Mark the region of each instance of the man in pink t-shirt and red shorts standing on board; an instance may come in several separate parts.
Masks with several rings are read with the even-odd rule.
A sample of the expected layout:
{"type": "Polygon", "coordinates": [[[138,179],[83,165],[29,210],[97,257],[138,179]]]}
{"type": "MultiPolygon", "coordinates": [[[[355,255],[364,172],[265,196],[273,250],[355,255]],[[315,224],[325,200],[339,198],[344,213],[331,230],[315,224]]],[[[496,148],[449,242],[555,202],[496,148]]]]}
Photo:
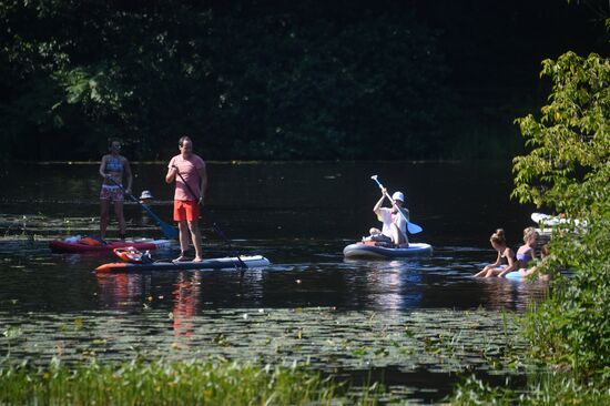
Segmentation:
{"type": "Polygon", "coordinates": [[[203,197],[207,187],[207,172],[205,162],[201,156],[193,153],[193,142],[189,136],[182,136],[177,146],[180,154],[172,158],[167,165],[165,182],[175,181],[174,193],[174,221],[177,222],[180,232],[180,256],[176,261],[186,261],[189,251],[189,232],[195,246],[194,262],[202,261],[201,232],[199,219],[201,216],[200,205],[203,205],[203,197]]]}

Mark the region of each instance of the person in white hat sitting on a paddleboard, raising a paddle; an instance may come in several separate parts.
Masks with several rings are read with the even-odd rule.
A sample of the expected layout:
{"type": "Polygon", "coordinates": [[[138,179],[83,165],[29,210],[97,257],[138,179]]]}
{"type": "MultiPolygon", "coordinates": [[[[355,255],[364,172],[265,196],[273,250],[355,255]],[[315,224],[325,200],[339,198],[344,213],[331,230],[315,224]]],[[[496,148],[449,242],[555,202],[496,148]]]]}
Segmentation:
{"type": "Polygon", "coordinates": [[[384,203],[387,190],[382,189],[382,199],[373,207],[373,212],[377,215],[377,219],[384,223],[382,230],[373,227],[369,233],[373,241],[390,242],[397,247],[407,248],[409,246],[409,240],[407,237],[407,222],[405,217],[398,213],[401,211],[407,219],[409,219],[409,211],[403,207],[405,204],[405,195],[403,192],[395,192],[392,195],[392,207],[382,207],[384,203]]]}

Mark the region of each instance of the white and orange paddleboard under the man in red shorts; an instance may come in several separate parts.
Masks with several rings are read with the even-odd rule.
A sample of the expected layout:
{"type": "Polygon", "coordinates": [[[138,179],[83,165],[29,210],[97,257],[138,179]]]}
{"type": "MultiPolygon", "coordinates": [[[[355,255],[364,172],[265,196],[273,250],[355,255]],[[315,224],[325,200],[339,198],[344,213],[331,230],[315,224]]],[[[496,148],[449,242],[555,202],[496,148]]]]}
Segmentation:
{"type": "Polygon", "coordinates": [[[131,272],[149,272],[149,271],[183,271],[183,270],[235,270],[235,268],[253,268],[265,267],[271,265],[271,262],[262,255],[236,256],[209,258],[200,262],[151,262],[151,263],[128,263],[114,262],[100,265],[95,268],[96,272],[113,272],[113,273],[131,273],[131,272]]]}

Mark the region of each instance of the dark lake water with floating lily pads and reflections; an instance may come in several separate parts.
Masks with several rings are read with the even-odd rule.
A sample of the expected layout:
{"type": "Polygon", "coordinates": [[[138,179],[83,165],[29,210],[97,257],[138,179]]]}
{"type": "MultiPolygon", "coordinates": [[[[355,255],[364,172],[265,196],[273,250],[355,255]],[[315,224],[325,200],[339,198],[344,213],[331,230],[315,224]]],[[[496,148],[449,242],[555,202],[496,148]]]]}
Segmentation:
{"type": "MultiPolygon", "coordinates": [[[[210,163],[206,255],[228,253],[216,223],[235,251],[273,263],[244,275],[96,275],[110,254],[52,254],[48,243],[98,232],[98,164],[0,169],[0,356],[299,363],[356,382],[382,375],[393,396],[414,402],[440,400],[467,372],[522,380],[497,365],[522,352],[511,318],[548,286],[471,277],[495,260],[488,241],[497,227],[517,247],[532,225],[532,207],[509,199],[508,162],[210,163]],[[345,245],[377,225],[373,174],[405,193],[424,227],[411,241],[431,244],[431,257],[343,258],[345,245]]],[[[133,171],[134,194],[150,190],[152,210],[171,223],[165,165],[133,171]]],[[[162,237],[136,204],[125,217],[130,236],[162,237]]]]}

